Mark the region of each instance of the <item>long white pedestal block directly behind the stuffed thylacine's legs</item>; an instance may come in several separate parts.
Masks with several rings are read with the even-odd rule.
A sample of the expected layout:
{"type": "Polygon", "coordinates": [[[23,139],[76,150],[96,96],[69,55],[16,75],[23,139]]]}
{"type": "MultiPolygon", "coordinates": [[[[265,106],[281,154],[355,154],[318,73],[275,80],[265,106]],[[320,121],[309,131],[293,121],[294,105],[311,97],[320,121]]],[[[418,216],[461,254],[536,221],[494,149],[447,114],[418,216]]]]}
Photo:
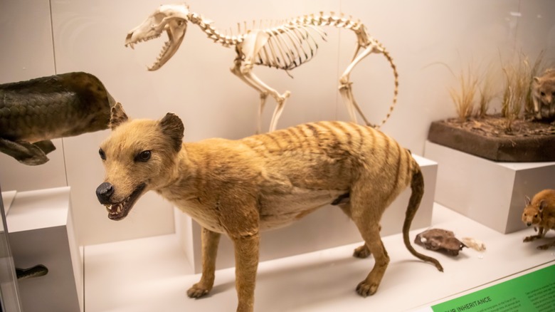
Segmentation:
{"type": "MultiPolygon", "coordinates": [[[[425,192],[413,219],[411,229],[429,227],[432,218],[432,207],[435,193],[435,176],[438,164],[423,157],[414,156],[421,166],[425,192]]],[[[381,219],[381,235],[387,236],[400,233],[405,219],[410,187],[391,204],[381,219]]],[[[186,252],[191,266],[196,273],[201,271],[201,227],[189,216],[175,209],[176,233],[180,244],[186,252]]],[[[263,232],[260,239],[260,261],[278,259],[295,254],[328,249],[345,244],[362,241],[358,229],[353,222],[335,206],[309,214],[304,219],[289,227],[263,232]]],[[[220,241],[218,248],[218,269],[235,266],[233,244],[226,237],[220,241]]]]}

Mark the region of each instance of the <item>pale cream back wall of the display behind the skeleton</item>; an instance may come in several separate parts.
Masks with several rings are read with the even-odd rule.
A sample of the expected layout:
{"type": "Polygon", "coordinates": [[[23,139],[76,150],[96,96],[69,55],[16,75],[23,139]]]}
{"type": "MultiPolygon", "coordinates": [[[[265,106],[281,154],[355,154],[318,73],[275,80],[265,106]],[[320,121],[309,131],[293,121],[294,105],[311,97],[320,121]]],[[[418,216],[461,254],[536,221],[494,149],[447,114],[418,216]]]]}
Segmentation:
{"type": "MultiPolygon", "coordinates": [[[[179,51],[159,71],[149,72],[164,37],[125,48],[127,31],[141,23],[160,1],[0,0],[0,83],[57,73],[85,71],[102,80],[132,118],[181,117],[185,140],[236,139],[255,132],[259,97],[229,68],[235,53],[206,38],[190,24],[179,51]]],[[[382,128],[405,147],[422,154],[430,122],[455,115],[448,87],[461,68],[499,67],[518,53],[534,59],[540,51],[553,61],[555,2],[441,0],[188,1],[191,11],[216,28],[237,22],[282,20],[319,11],[344,12],[366,24],[393,56],[399,96],[382,128]],[[453,71],[453,72],[452,72],[453,71]]],[[[347,30],[326,28],[312,61],[289,72],[255,68],[280,92],[291,91],[278,128],[314,120],[348,120],[337,92],[355,41],[347,30]]],[[[235,31],[236,32],[236,31],[235,31]]],[[[366,116],[379,123],[393,96],[386,58],[371,55],[351,75],[354,94],[366,116]]],[[[268,128],[275,107],[269,98],[263,115],[268,128]]],[[[174,232],[173,210],[157,194],[144,196],[122,222],[107,219],[95,189],[103,179],[97,150],[108,130],[54,140],[50,162],[21,165],[0,155],[2,190],[71,187],[75,227],[81,244],[99,244],[174,232]]]]}

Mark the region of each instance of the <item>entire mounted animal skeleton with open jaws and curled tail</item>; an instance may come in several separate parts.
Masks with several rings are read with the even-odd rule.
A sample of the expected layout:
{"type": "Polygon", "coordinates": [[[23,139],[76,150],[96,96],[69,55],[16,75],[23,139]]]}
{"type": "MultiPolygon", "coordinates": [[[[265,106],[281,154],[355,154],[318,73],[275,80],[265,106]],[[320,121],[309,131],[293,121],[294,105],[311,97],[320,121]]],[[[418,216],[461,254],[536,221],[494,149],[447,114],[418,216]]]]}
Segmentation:
{"type": "MultiPolygon", "coordinates": [[[[289,97],[290,92],[285,91],[285,93],[280,94],[277,90],[271,88],[255,76],[253,66],[264,65],[290,71],[297,66],[307,63],[307,61],[314,57],[318,48],[314,34],[322,38],[322,40],[326,40],[327,35],[322,31],[320,26],[345,28],[354,31],[356,34],[357,42],[354,56],[341,78],[339,78],[339,93],[341,93],[343,101],[347,105],[351,121],[356,122],[356,112],[358,112],[364,123],[371,125],[354,99],[352,82],[349,79],[354,66],[370,53],[383,53],[393,69],[393,76],[395,78],[393,103],[389,107],[386,118],[381,121],[380,125],[372,126],[379,128],[379,126],[383,125],[391,115],[396,104],[398,74],[396,66],[393,64],[393,59],[386,51],[386,48],[369,35],[366,27],[360,21],[354,21],[351,17],[347,18],[343,15],[337,16],[333,12],[331,14],[320,12],[319,14],[297,17],[287,20],[279,26],[268,28],[263,28],[262,23],[260,23],[258,26],[253,24],[253,28],[248,29],[245,24],[243,33],[233,36],[222,34],[221,31],[213,28],[212,21],[203,18],[199,14],[192,13],[185,4],[165,4],[159,6],[142,24],[127,33],[125,46],[133,48],[135,43],[158,38],[162,31],[166,31],[169,40],[166,41],[157,61],[148,68],[149,71],[156,71],[176,53],[181,41],[183,41],[187,22],[189,21],[192,24],[198,25],[208,35],[208,38],[211,38],[215,43],[236,49],[237,56],[235,61],[233,61],[231,72],[260,93],[258,132],[260,132],[260,118],[268,95],[272,95],[277,102],[270,122],[270,131],[273,131],[277,126],[277,120],[280,118],[285,106],[285,100],[289,97]]],[[[240,31],[240,24],[238,25],[240,31]]]]}

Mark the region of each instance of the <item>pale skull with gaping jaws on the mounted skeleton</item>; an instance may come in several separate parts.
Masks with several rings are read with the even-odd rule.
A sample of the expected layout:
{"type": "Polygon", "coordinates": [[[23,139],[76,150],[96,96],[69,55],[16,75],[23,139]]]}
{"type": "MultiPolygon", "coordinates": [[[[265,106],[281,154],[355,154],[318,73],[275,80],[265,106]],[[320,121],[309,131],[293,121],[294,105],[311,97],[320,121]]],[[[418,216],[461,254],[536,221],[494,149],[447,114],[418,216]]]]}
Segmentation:
{"type": "Polygon", "coordinates": [[[162,35],[162,31],[166,31],[168,41],[162,47],[156,62],[148,68],[149,71],[156,71],[169,61],[181,45],[187,30],[187,21],[189,21],[189,9],[186,6],[172,4],[159,6],[142,24],[127,33],[125,46],[134,48],[135,43],[158,38],[162,35]]]}

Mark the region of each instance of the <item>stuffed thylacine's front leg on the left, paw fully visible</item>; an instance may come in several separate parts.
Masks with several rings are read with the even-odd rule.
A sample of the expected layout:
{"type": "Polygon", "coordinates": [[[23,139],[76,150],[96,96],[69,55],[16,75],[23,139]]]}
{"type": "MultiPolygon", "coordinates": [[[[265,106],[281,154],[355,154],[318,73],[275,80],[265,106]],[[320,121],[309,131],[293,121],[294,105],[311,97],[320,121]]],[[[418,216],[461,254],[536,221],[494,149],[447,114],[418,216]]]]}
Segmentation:
{"type": "Polygon", "coordinates": [[[211,291],[214,285],[216,272],[216,255],[218,254],[218,243],[221,234],[202,228],[201,248],[202,248],[202,276],[199,283],[194,284],[187,291],[187,296],[199,298],[211,291]]]}

